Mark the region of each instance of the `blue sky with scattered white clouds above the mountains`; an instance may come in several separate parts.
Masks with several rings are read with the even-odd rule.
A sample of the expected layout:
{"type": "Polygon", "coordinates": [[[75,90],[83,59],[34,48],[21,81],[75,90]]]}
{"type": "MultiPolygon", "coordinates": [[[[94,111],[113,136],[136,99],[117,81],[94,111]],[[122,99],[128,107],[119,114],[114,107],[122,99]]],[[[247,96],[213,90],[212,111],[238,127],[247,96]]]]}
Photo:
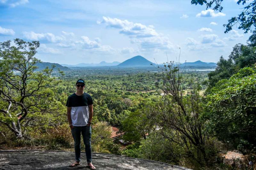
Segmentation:
{"type": "Polygon", "coordinates": [[[0,42],[39,41],[36,58],[59,64],[123,62],[141,55],[167,61],[218,62],[251,33],[223,24],[243,5],[206,10],[190,0],[0,0],[0,42]]]}

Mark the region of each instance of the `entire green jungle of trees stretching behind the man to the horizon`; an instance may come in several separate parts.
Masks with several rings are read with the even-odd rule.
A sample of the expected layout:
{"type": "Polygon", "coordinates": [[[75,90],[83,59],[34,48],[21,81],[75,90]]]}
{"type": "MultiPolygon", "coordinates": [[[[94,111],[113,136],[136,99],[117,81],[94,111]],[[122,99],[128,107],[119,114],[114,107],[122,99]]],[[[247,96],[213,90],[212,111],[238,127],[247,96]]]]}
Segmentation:
{"type": "Polygon", "coordinates": [[[176,61],[149,68],[37,71],[40,43],[14,43],[0,43],[1,150],[73,151],[65,105],[82,78],[93,98],[92,152],[192,169],[255,169],[255,31],[227,60],[220,57],[214,71],[188,71],[176,61]],[[120,138],[111,138],[112,127],[120,138]],[[230,150],[245,159],[223,164],[230,150]]]}

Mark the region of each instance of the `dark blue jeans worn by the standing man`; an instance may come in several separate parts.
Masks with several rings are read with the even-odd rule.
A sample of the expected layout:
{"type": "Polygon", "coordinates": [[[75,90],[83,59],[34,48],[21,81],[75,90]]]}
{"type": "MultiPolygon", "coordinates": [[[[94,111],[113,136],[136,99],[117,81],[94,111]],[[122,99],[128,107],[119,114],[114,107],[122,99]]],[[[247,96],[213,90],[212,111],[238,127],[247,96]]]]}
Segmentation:
{"type": "Polygon", "coordinates": [[[71,129],[72,136],[74,138],[75,142],[75,152],[76,152],[76,161],[81,161],[80,154],[81,154],[81,133],[84,139],[84,145],[85,145],[85,154],[87,163],[92,162],[92,148],[91,148],[91,136],[92,136],[92,129],[91,126],[74,126],[73,129],[71,129]]]}

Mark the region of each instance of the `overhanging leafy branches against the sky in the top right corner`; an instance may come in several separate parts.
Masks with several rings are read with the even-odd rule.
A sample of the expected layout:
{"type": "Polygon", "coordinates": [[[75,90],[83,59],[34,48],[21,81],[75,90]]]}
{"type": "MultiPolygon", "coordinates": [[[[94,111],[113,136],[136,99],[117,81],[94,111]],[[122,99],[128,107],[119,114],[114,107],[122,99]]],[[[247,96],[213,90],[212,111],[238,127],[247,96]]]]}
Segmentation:
{"type": "MultiPolygon", "coordinates": [[[[223,7],[221,6],[223,0],[191,0],[191,4],[200,4],[204,5],[206,4],[206,9],[211,8],[216,11],[222,11],[223,7]]],[[[250,2],[249,0],[238,0],[237,4],[246,4],[246,2],[250,2]]],[[[238,29],[243,29],[244,33],[247,33],[248,31],[252,31],[256,28],[256,0],[253,0],[250,2],[247,6],[243,8],[244,10],[237,16],[237,17],[232,17],[231,19],[228,20],[228,24],[224,24],[223,26],[226,27],[225,33],[229,32],[232,30],[232,27],[234,25],[239,24],[238,29]]]]}

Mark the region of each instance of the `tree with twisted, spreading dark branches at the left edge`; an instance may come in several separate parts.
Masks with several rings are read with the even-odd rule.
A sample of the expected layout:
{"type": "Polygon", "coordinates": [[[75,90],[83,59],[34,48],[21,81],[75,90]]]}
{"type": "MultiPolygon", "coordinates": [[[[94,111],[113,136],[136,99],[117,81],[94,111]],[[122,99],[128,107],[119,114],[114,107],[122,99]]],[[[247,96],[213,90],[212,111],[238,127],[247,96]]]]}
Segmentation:
{"type": "Polygon", "coordinates": [[[40,43],[22,39],[14,43],[0,43],[0,123],[16,137],[23,137],[22,128],[60,124],[58,116],[65,108],[52,89],[60,82],[51,77],[53,67],[35,71],[40,43]]]}

